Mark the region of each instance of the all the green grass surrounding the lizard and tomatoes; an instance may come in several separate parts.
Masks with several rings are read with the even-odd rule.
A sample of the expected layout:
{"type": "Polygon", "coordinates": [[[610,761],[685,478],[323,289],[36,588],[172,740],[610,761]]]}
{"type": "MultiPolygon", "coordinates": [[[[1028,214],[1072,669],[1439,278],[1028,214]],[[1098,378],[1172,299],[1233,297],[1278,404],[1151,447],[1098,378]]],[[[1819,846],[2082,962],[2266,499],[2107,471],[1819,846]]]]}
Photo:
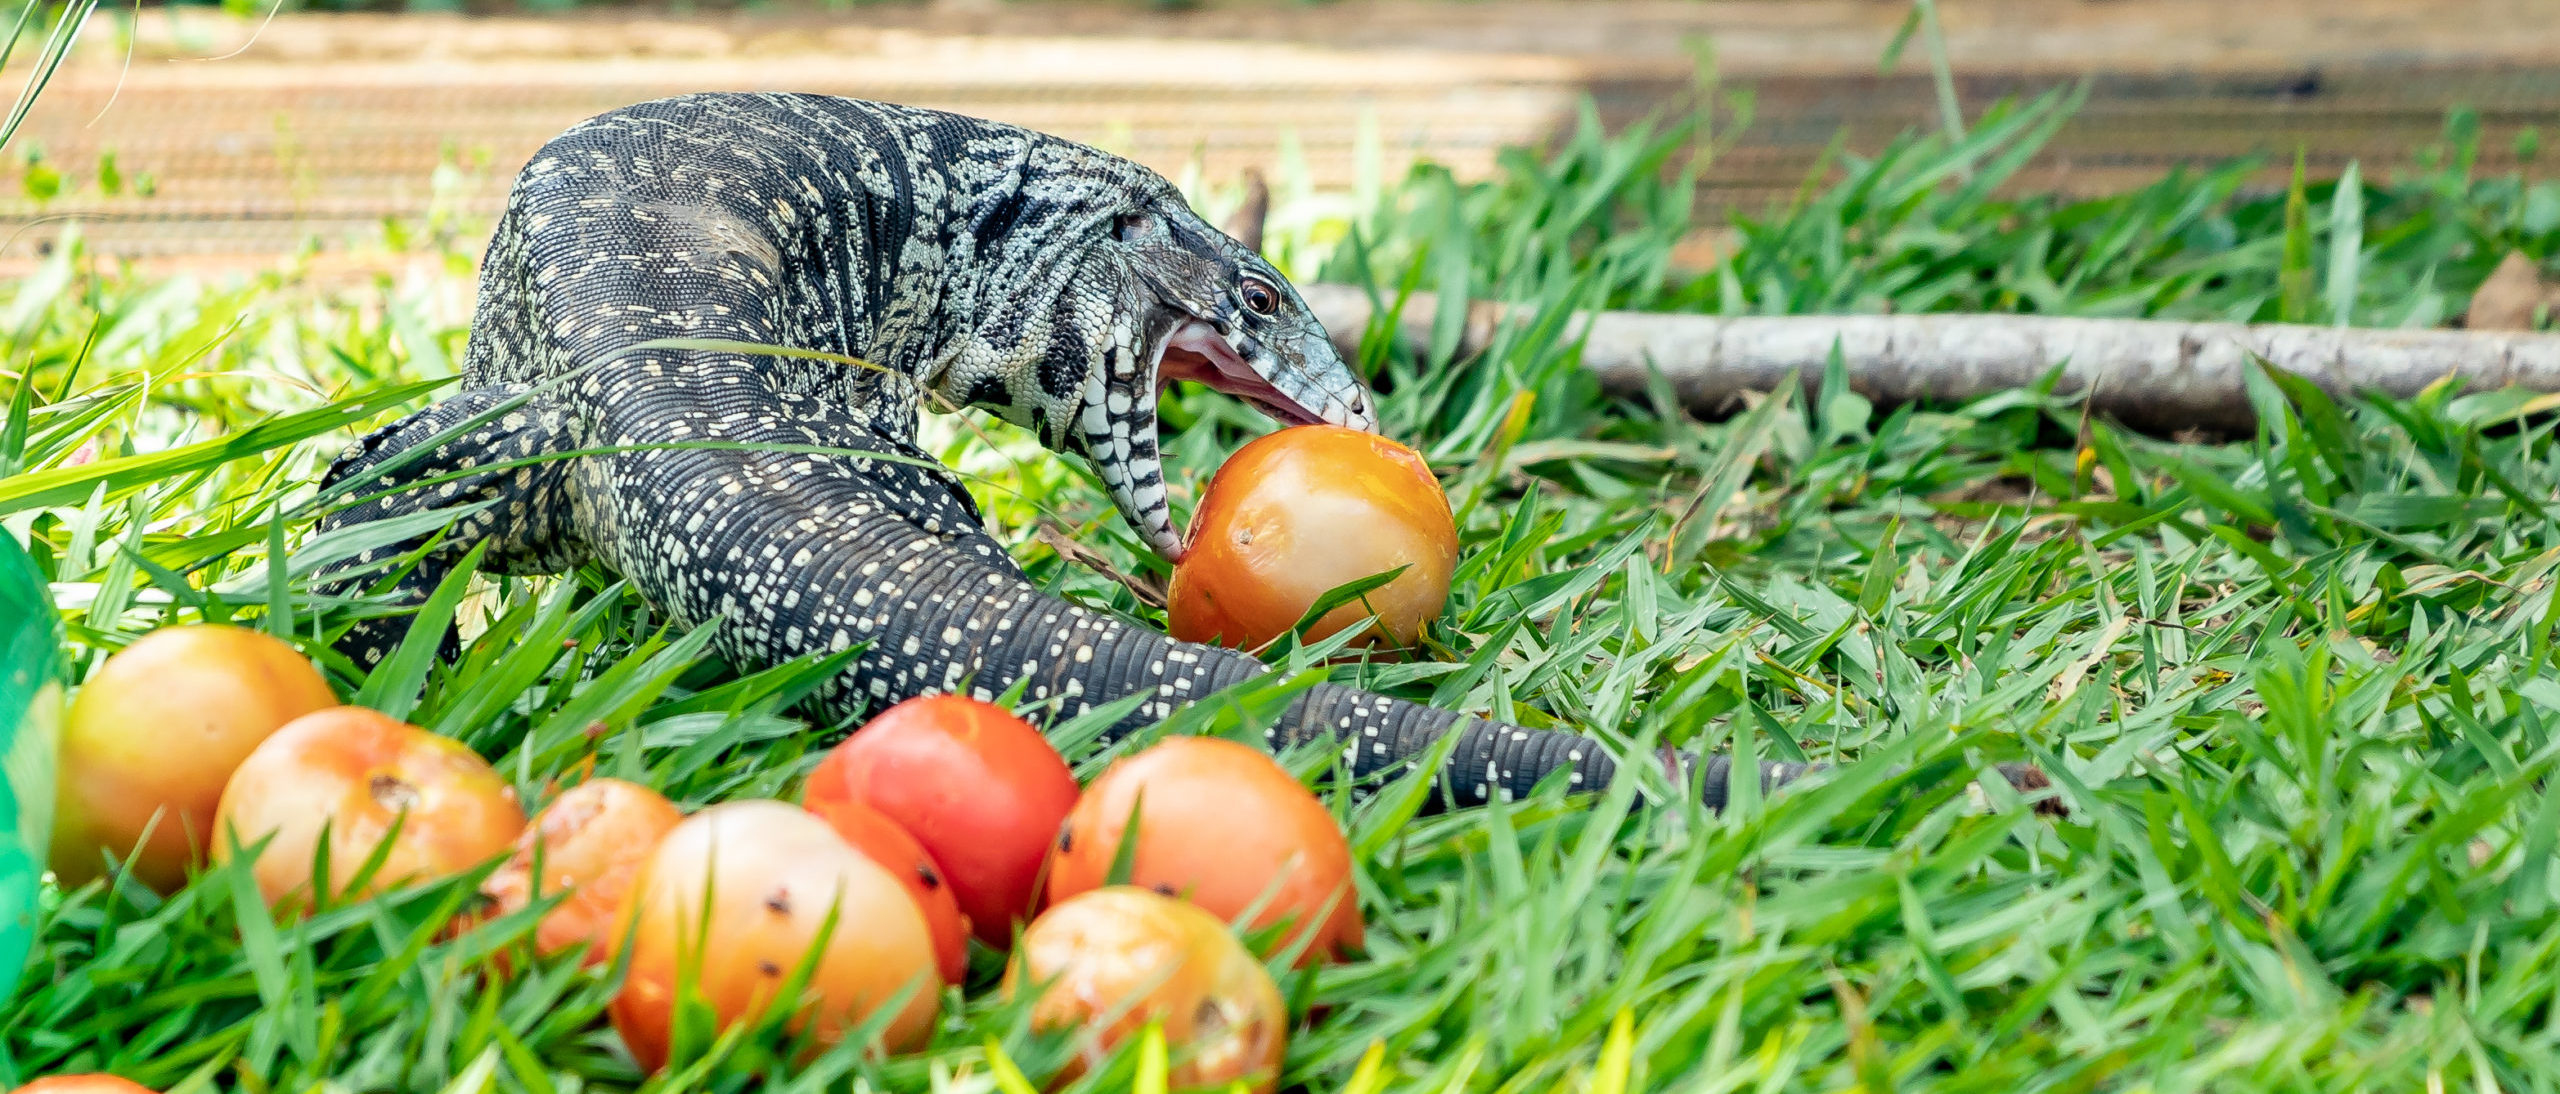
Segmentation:
{"type": "MultiPolygon", "coordinates": [[[[1705,277],[1669,251],[1708,115],[1592,131],[1482,184],[1421,172],[1354,220],[1283,210],[1275,246],[1298,274],[1551,310],[2427,323],[2506,246],[2542,254],[2560,228],[2550,184],[2468,177],[2460,123],[2440,169],[2353,200],[2250,195],[2237,167],[2097,202],[1992,195],[2061,108],[1994,110],[1958,149],[1843,156],[1705,277]]],[[[358,605],[305,589],[333,546],[300,502],[358,420],[451,374],[453,290],[146,284],[87,274],[74,249],[15,287],[0,525],[72,592],[82,671],[148,628],[228,617],[468,740],[532,802],[589,758],[684,804],[791,794],[842,730],[788,705],[822,666],[740,676],[607,574],[489,584],[453,666],[361,682],[325,653],[358,605]]],[[[1628,810],[1626,792],[1416,822],[1398,794],[1336,799],[1372,948],[1283,976],[1300,1015],[1324,1007],[1290,1043],[1293,1084],[2560,1089],[2560,804],[2542,797],[2560,461],[2542,402],[2337,405],[2263,377],[2258,436],[2171,446],[2038,392],[1871,407],[1825,384],[1818,405],[1777,395],[1700,423],[1667,397],[1605,400],[1551,325],[1444,356],[1372,338],[1362,361],[1388,430],[1459,507],[1444,656],[1347,676],[1620,743],[1871,763],[1720,817],[1628,810]],[[2053,771],[2074,817],[1987,807],[2007,799],[1989,766],[2012,758],[2053,771]]],[[[1198,392],[1167,423],[1178,505],[1267,428],[1198,392]]],[[[986,477],[1037,579],[1155,623],[1029,535],[1060,520],[1160,569],[1085,471],[996,425],[932,438],[986,477]]],[[[1239,717],[1198,710],[1183,730],[1239,717]]],[[[1060,735],[1098,758],[1088,728],[1060,735]]],[[[445,940],[468,889],[282,925],[230,871],[166,899],[61,892],[0,1045],[31,1074],[184,1091],[643,1086],[602,1020],[612,971],[494,976],[530,922],[445,940]]],[[[737,1038],[658,1089],[988,1091],[991,1038],[1039,1079],[1057,1045],[983,992],[996,963],[978,958],[924,1056],[791,1071],[771,1038],[737,1038]]]]}

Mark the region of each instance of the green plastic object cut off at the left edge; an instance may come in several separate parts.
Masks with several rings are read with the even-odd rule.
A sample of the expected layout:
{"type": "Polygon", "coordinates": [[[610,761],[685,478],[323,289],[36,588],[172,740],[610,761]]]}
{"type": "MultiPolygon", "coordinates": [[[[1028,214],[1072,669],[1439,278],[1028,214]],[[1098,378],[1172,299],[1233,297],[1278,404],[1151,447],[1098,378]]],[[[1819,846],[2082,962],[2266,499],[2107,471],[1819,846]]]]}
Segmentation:
{"type": "Polygon", "coordinates": [[[15,997],[36,943],[61,712],[61,615],[36,561],[0,535],[0,1002],[15,997]]]}

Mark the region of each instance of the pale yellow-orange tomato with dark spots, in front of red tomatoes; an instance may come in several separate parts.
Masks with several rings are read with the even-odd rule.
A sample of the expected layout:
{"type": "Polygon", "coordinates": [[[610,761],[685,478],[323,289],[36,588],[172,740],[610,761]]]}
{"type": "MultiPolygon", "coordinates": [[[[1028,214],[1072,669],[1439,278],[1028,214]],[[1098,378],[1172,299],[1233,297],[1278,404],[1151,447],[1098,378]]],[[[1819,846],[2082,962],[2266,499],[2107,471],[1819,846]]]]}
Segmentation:
{"type": "Polygon", "coordinates": [[[886,866],[794,804],[724,802],[686,817],[658,840],[630,902],[630,974],[612,1020],[650,1071],[673,1048],[678,976],[691,979],[722,1030],[748,1022],[809,958],[829,910],[837,922],[809,976],[812,999],[781,1002],[794,1007],[794,1030],[832,1045],[906,992],[883,1043],[909,1050],[942,1012],[934,943],[916,899],[886,866]]]}

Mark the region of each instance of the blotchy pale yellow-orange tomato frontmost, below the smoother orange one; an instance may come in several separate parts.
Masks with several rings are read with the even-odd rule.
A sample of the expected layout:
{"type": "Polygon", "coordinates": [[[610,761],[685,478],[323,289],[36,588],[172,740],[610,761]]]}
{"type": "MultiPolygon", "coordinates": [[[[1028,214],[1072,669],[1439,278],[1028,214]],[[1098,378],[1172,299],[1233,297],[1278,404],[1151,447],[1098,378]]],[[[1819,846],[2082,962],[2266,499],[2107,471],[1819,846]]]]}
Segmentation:
{"type": "Polygon", "coordinates": [[[1288,1048],[1280,986],[1198,907],[1134,886],[1068,899],[1021,933],[1004,994],[1021,989],[1042,989],[1032,1002],[1034,1027],[1085,1030],[1060,1084],[1101,1066],[1155,1020],[1165,1022],[1175,1089],[1280,1086],[1288,1048]]]}

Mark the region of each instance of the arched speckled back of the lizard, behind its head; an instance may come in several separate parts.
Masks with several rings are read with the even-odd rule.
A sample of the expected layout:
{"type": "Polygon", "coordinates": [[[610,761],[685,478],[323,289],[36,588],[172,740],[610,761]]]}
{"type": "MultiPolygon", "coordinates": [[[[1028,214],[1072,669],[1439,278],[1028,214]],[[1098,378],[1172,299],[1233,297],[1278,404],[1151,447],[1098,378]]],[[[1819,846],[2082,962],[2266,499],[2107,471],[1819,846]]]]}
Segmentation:
{"type": "Polygon", "coordinates": [[[1034,290],[1062,269],[1073,241],[1039,223],[1065,208],[1042,192],[1060,187],[1170,190],[1070,141],[891,102],[707,92],[620,108],[517,174],[466,379],[540,382],[668,333],[765,336],[922,374],[960,325],[986,320],[955,313],[980,284],[1034,290]],[[686,310],[740,282],[760,315],[686,310]]]}

